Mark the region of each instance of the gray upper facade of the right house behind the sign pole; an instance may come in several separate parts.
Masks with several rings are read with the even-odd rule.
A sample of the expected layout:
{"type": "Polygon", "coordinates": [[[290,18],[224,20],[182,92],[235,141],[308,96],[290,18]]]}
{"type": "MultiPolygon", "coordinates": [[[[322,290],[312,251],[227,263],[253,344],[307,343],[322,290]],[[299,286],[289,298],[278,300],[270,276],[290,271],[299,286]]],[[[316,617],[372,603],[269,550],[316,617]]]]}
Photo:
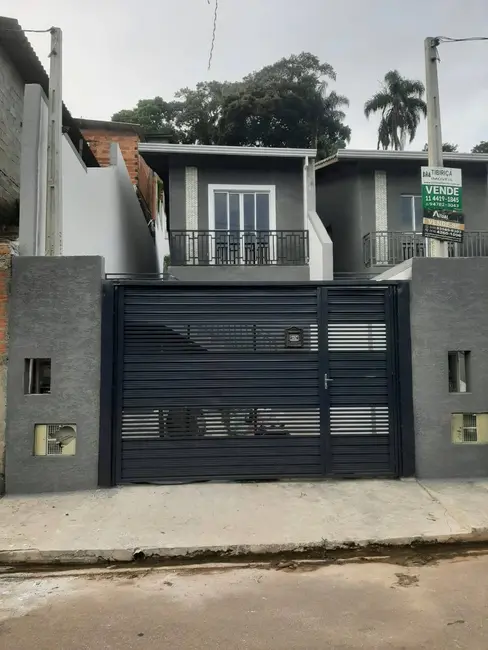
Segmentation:
{"type": "MultiPolygon", "coordinates": [[[[463,174],[465,238],[451,257],[488,256],[488,156],[446,153],[463,174]]],[[[381,273],[424,257],[420,167],[427,154],[339,150],[316,164],[317,212],[334,246],[334,272],[381,273]]]]}

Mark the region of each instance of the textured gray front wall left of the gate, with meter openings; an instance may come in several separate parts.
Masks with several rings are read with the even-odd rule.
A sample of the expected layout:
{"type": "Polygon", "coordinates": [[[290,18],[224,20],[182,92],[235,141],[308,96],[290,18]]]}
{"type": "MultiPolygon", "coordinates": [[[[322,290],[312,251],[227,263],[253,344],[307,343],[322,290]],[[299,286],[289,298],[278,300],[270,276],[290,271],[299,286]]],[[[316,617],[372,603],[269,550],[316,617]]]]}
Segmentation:
{"type": "Polygon", "coordinates": [[[12,264],[6,491],[98,483],[101,257],[17,257],[12,264]],[[51,394],[24,395],[24,362],[51,359],[51,394]],[[75,456],[33,455],[34,424],[74,423],[75,456]]]}

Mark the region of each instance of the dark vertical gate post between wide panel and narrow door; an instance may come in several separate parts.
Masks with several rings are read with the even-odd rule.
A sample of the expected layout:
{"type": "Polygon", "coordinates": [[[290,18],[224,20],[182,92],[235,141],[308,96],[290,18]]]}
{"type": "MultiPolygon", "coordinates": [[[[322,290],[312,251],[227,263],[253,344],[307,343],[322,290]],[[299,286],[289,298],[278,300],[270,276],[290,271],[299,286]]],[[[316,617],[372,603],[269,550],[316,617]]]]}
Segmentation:
{"type": "Polygon", "coordinates": [[[320,405],[320,449],[324,476],[327,475],[332,468],[332,449],[330,440],[330,398],[328,382],[326,381],[326,378],[329,378],[329,310],[327,297],[327,287],[318,287],[317,305],[319,376],[317,379],[320,405]]]}

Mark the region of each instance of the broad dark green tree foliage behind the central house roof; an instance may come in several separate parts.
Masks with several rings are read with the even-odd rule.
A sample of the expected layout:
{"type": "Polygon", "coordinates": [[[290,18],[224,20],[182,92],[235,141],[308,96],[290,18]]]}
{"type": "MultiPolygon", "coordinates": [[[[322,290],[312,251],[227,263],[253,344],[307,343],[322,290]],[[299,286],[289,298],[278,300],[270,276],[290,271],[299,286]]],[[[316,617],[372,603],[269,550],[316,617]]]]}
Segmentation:
{"type": "Polygon", "coordinates": [[[351,137],[344,123],[346,97],[328,92],[332,66],[303,52],[265,66],[238,82],[201,82],[172,101],[140,100],[114,121],[168,133],[176,142],[317,148],[334,153],[351,137]]]}

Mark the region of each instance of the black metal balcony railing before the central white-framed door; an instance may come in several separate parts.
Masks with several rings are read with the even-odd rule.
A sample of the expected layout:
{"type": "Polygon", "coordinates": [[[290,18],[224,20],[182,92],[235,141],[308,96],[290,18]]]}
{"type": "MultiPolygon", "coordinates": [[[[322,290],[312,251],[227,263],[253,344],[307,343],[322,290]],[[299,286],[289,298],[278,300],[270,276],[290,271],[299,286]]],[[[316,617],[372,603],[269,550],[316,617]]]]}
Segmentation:
{"type": "Polygon", "coordinates": [[[308,264],[307,230],[173,230],[171,266],[308,264]]]}

